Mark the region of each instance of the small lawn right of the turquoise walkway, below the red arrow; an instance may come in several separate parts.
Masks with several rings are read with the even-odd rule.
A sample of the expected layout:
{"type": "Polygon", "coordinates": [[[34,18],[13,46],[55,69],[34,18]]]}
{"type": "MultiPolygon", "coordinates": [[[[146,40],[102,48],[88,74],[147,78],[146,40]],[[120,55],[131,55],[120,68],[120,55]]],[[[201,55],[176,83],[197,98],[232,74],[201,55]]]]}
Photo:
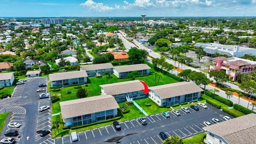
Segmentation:
{"type": "Polygon", "coordinates": [[[138,103],[138,105],[146,111],[147,114],[152,115],[152,114],[157,114],[161,113],[163,111],[170,111],[172,110],[171,108],[160,108],[158,107],[153,101],[151,101],[149,98],[146,99],[140,99],[140,100],[135,100],[135,102],[138,103]],[[151,104],[150,107],[147,107],[145,103],[148,102],[151,104]]]}

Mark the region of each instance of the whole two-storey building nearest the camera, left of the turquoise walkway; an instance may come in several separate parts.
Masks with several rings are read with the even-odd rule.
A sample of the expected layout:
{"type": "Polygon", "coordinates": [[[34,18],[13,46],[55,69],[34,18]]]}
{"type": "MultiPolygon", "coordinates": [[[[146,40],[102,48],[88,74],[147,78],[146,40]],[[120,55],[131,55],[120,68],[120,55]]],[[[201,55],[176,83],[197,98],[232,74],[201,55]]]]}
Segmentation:
{"type": "Polygon", "coordinates": [[[117,116],[119,108],[111,95],[60,102],[61,116],[65,126],[84,125],[117,116]]]}

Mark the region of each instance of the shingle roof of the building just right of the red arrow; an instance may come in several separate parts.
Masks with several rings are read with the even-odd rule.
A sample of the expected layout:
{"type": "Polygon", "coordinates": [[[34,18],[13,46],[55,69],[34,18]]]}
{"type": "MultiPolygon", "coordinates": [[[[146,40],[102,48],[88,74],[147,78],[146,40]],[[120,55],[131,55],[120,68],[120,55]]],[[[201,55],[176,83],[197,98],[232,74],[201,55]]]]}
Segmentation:
{"type": "Polygon", "coordinates": [[[149,89],[154,90],[162,99],[203,91],[195,83],[189,82],[158,85],[149,87],[149,89]]]}

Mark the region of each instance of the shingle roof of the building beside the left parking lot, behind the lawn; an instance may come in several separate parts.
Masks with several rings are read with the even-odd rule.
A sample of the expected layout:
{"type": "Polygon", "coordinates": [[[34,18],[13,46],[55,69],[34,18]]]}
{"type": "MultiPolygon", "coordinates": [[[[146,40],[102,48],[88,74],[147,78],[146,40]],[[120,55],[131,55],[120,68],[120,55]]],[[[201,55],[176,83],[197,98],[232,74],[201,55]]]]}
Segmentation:
{"type": "Polygon", "coordinates": [[[88,77],[86,71],[70,71],[66,73],[57,73],[57,74],[50,74],[49,81],[59,81],[62,79],[71,79],[71,78],[78,78],[78,77],[88,77]]]}

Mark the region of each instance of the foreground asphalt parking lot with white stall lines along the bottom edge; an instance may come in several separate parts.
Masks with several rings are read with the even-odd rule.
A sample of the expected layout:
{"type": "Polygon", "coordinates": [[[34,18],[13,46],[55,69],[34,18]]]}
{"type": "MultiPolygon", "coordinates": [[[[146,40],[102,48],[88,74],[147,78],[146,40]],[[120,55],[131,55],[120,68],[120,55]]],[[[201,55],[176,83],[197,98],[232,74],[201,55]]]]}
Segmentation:
{"type": "MultiPolygon", "coordinates": [[[[181,116],[173,113],[170,118],[165,118],[162,114],[146,116],[147,125],[141,125],[137,119],[119,123],[121,131],[116,131],[113,125],[98,127],[92,130],[78,132],[78,141],[71,141],[70,135],[65,135],[55,139],[55,143],[162,143],[159,132],[165,132],[167,136],[177,135],[181,138],[188,138],[195,134],[204,132],[203,122],[212,118],[218,118],[221,122],[223,116],[227,115],[223,111],[206,104],[209,108],[199,108],[199,111],[190,109],[190,113],[181,110],[181,116]]],[[[227,115],[229,116],[229,115],[227,115]]],[[[229,116],[231,117],[231,116],[229,116]]],[[[231,117],[233,118],[233,117],[231,117]]]]}

